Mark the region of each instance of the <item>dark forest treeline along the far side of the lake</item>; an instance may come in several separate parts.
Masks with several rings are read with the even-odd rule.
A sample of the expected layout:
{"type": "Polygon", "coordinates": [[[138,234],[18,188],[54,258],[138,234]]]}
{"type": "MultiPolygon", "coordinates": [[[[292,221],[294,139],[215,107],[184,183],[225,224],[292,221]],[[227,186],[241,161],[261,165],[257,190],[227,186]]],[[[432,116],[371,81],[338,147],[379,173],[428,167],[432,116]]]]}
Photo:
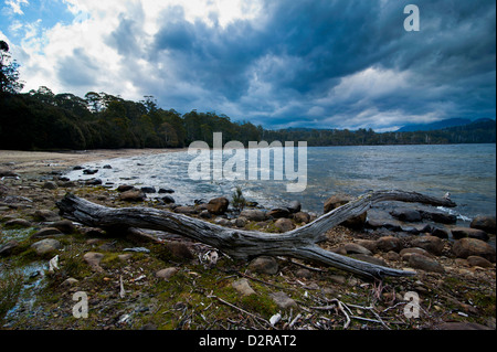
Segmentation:
{"type": "Polygon", "coordinates": [[[27,94],[0,94],[0,149],[61,150],[115,148],[183,148],[203,140],[212,146],[213,132],[223,142],[237,140],[307,141],[313,146],[424,145],[496,142],[495,120],[435,131],[384,132],[372,129],[266,130],[225,115],[179,114],[160,108],[154,97],[130,102],[106,93],[84,98],[53,94],[46,87],[27,94]]]}

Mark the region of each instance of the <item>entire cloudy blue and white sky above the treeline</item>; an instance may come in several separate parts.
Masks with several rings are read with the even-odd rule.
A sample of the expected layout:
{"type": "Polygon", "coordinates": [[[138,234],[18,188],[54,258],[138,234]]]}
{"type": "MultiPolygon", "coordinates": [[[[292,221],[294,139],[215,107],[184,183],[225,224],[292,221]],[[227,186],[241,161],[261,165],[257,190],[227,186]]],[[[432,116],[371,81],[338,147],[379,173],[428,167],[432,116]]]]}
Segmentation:
{"type": "Polygon", "coordinates": [[[0,0],[23,92],[151,95],[268,129],[495,118],[495,0],[0,0]]]}

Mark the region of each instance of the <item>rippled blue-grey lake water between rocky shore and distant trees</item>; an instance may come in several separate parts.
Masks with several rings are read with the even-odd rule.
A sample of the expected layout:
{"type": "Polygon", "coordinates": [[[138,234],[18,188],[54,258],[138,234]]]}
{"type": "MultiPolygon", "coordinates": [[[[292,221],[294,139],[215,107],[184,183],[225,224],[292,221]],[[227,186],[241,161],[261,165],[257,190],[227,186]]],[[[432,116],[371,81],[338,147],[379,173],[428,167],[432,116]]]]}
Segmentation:
{"type": "Polygon", "coordinates": [[[438,198],[450,192],[458,204],[451,211],[462,218],[496,213],[496,145],[313,147],[307,149],[307,188],[298,193],[286,191],[289,181],[285,179],[193,181],[188,167],[194,158],[188,152],[171,152],[112,159],[84,166],[98,168],[96,175],[83,175],[80,170],[67,177],[72,180],[97,177],[114,186],[169,188],[176,191],[172,196],[178,204],[216,196],[231,199],[240,185],[247,200],[265,207],[297,200],[303,210],[321,214],[325,200],[334,193],[360,195],[370,190],[398,189],[438,198]],[[104,169],[105,164],[112,169],[104,169]]]}

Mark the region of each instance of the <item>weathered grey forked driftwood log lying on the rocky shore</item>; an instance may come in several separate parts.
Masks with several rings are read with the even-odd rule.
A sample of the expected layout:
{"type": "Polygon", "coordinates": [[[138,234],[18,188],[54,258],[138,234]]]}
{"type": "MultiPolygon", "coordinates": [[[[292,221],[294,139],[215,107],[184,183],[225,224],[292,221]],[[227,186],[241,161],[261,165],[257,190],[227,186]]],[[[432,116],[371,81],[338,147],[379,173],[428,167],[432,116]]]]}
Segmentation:
{"type": "Polygon", "coordinates": [[[199,218],[150,207],[114,209],[92,203],[67,194],[56,204],[61,215],[104,230],[126,231],[148,228],[179,234],[220,249],[233,258],[250,259],[256,256],[287,256],[317,262],[370,278],[384,276],[412,276],[414,271],[379,266],[322,249],[317,245],[326,241],[326,233],[343,221],[368,211],[372,204],[401,201],[454,207],[448,199],[436,199],[414,192],[370,192],[324,214],[316,221],[283,234],[243,231],[215,225],[199,218]]]}

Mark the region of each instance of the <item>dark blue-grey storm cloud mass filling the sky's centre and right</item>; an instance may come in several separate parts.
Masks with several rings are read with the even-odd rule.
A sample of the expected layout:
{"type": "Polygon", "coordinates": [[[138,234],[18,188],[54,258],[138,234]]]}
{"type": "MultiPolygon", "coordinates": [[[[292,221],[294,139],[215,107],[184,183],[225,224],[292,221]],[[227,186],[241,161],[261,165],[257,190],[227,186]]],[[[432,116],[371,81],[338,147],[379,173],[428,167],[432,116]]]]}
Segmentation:
{"type": "Polygon", "coordinates": [[[214,25],[189,22],[176,7],[147,54],[134,49],[136,22],[123,19],[110,39],[147,55],[162,78],[147,92],[180,110],[268,128],[495,117],[495,1],[417,0],[421,31],[406,32],[411,2],[267,0],[260,18],[226,26],[213,14],[214,25]]]}

